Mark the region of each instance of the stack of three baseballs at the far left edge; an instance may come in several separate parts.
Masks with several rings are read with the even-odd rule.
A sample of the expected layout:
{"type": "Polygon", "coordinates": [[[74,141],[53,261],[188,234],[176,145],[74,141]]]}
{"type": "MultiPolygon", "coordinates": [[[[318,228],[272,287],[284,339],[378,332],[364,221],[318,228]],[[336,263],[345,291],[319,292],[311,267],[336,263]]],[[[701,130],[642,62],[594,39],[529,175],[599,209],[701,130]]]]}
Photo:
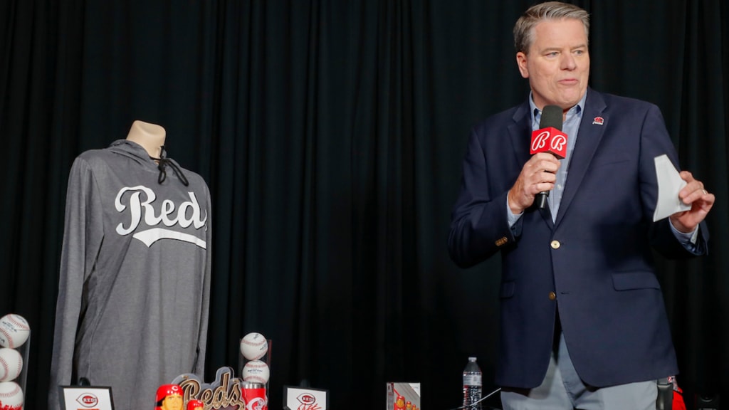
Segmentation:
{"type": "Polygon", "coordinates": [[[19,314],[0,318],[0,409],[23,409],[23,389],[13,382],[23,371],[23,355],[17,348],[26,343],[31,328],[19,314]]]}

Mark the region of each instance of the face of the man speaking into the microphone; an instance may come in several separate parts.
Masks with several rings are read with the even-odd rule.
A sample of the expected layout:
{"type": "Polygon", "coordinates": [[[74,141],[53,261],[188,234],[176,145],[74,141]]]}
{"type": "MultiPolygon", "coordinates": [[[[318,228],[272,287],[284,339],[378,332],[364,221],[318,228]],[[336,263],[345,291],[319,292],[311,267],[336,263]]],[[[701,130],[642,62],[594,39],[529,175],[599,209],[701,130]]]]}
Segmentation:
{"type": "Polygon", "coordinates": [[[545,20],[534,26],[529,53],[516,53],[521,77],[529,79],[534,104],[569,109],[588,88],[590,55],[582,22],[545,20]]]}

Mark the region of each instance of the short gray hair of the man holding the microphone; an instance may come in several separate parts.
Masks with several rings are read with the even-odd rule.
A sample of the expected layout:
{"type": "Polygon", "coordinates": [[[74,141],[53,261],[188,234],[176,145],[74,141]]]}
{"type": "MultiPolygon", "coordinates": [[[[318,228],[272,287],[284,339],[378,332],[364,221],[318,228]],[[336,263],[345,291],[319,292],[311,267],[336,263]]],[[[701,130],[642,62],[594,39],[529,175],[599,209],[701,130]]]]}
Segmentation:
{"type": "Polygon", "coordinates": [[[582,26],[585,27],[585,36],[589,39],[590,15],[588,15],[588,12],[574,4],[547,1],[529,7],[519,20],[516,20],[514,26],[514,47],[516,51],[525,54],[529,52],[529,47],[534,42],[534,26],[537,26],[537,23],[544,20],[561,20],[563,18],[580,20],[582,26]]]}

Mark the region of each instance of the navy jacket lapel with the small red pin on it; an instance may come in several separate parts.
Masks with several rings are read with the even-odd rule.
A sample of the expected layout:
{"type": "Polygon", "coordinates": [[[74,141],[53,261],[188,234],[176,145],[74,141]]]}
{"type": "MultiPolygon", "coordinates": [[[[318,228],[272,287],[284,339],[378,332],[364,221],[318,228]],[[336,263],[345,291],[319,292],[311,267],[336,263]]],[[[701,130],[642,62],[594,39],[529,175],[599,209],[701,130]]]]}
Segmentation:
{"type": "MultiPolygon", "coordinates": [[[[577,143],[574,145],[572,158],[569,160],[569,172],[564,187],[562,201],[559,204],[559,211],[555,225],[558,225],[569,211],[569,205],[582,184],[590,162],[600,144],[604,131],[609,125],[609,116],[604,114],[607,105],[600,93],[588,88],[588,97],[585,99],[585,111],[582,112],[580,131],[578,131],[577,143]],[[601,118],[601,121],[599,120],[601,118]]],[[[569,138],[569,136],[567,136],[569,138]]]]}

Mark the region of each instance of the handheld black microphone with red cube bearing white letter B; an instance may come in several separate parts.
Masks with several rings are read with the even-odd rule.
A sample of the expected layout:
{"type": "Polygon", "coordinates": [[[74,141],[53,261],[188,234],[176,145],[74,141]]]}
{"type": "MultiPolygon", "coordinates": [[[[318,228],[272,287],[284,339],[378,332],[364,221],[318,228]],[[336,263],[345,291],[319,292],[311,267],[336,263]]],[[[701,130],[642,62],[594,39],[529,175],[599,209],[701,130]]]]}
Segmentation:
{"type": "MultiPolygon", "coordinates": [[[[547,105],[542,109],[539,129],[531,132],[531,155],[537,152],[550,152],[558,159],[567,155],[567,134],[562,132],[562,109],[556,105],[547,105]]],[[[549,191],[537,194],[539,209],[547,205],[549,191]]]]}

